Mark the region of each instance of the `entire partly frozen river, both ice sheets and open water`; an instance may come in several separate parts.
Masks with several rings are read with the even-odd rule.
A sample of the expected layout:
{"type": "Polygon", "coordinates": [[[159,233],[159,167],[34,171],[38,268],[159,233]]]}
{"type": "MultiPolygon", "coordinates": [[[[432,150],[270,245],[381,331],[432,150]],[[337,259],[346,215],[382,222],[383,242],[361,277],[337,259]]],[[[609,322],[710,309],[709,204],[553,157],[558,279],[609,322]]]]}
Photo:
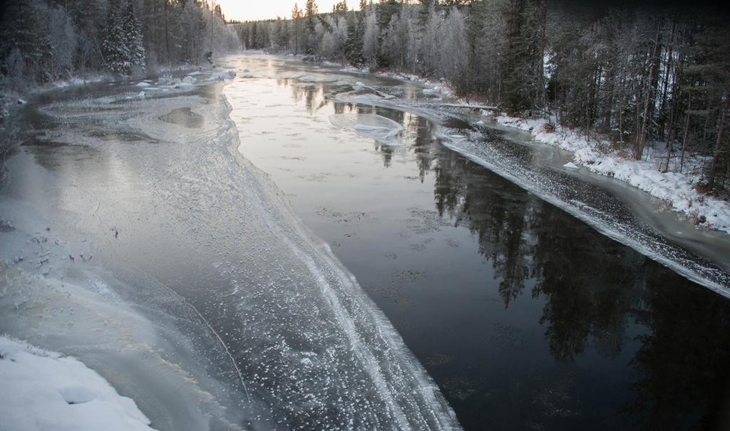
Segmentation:
{"type": "Polygon", "coordinates": [[[418,83],[226,63],[21,109],[0,333],[159,430],[729,423],[725,238],[418,83]]]}

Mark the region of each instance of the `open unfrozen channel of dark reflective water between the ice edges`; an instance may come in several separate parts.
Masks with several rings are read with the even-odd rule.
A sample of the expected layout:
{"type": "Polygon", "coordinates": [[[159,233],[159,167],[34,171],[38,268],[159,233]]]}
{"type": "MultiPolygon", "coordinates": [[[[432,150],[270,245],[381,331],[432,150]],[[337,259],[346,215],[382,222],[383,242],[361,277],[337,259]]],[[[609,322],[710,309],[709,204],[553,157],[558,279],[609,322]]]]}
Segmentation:
{"type": "Polygon", "coordinates": [[[466,429],[728,429],[726,298],[447,150],[423,117],[334,102],[344,90],[274,74],[225,92],[242,154],[355,274],[466,429]],[[328,121],[353,113],[400,123],[403,145],[328,121]]]}

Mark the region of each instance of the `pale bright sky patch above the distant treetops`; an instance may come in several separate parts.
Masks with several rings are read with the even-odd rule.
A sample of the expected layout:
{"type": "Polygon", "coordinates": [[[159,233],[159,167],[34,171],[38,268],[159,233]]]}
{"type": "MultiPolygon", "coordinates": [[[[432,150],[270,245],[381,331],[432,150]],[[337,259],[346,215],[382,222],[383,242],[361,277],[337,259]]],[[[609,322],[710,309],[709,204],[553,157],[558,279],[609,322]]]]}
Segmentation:
{"type": "MultiPolygon", "coordinates": [[[[266,18],[289,18],[294,2],[304,9],[307,0],[218,0],[223,15],[228,20],[263,20],[266,18]]],[[[320,12],[329,12],[339,0],[316,0],[320,12]]],[[[357,9],[360,0],[347,0],[347,7],[357,9]]]]}

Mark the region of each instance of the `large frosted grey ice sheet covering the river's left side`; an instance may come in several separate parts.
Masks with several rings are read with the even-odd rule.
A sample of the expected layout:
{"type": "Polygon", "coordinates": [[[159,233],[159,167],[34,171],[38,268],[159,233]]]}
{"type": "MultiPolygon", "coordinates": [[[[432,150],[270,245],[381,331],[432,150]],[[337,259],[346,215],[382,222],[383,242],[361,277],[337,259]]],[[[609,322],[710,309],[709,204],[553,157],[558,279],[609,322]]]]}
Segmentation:
{"type": "Polygon", "coordinates": [[[353,276],[239,155],[220,84],[119,91],[39,106],[7,161],[4,332],[79,357],[159,430],[458,428],[353,276]],[[164,121],[176,112],[204,119],[164,121]]]}

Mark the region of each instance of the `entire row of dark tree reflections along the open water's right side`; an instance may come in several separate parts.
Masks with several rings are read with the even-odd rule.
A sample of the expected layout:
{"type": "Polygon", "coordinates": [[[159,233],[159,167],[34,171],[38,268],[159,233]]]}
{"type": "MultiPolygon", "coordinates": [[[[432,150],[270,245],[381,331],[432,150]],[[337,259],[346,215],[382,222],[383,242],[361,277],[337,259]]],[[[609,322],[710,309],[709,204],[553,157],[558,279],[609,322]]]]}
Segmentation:
{"type": "Polygon", "coordinates": [[[558,361],[589,346],[618,357],[627,328],[646,327],[625,411],[646,430],[710,427],[730,406],[730,303],[436,144],[426,123],[415,121],[410,143],[420,176],[434,171],[439,214],[477,236],[504,306],[531,281],[558,361]]]}

